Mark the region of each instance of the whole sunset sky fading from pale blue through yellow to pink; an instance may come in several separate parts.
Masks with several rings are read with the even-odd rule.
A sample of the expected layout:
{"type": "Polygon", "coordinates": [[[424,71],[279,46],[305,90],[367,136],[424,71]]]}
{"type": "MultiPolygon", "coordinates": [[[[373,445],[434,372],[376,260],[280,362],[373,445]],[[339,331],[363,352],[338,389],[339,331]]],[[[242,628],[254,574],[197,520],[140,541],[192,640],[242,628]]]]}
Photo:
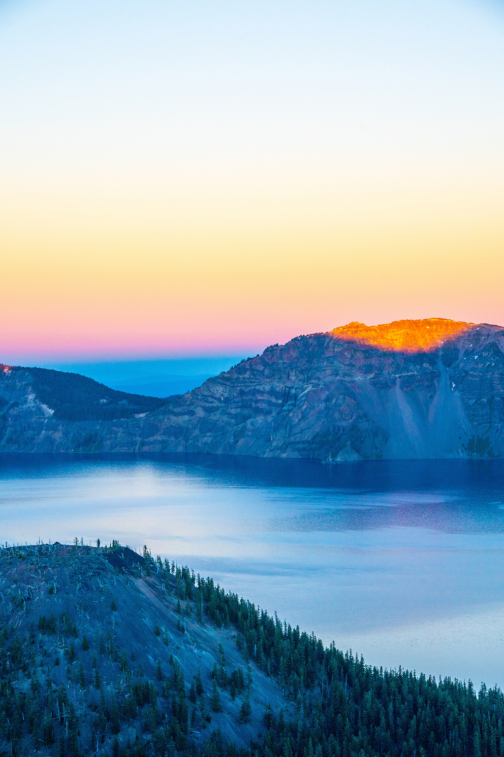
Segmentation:
{"type": "Polygon", "coordinates": [[[504,8],[0,0],[0,361],[504,323],[504,8]]]}

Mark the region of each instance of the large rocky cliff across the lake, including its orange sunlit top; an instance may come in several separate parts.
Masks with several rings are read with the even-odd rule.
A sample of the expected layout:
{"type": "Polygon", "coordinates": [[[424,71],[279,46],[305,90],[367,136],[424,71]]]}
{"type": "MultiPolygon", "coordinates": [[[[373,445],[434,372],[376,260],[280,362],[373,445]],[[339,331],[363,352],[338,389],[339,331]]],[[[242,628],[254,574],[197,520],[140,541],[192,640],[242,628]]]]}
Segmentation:
{"type": "MultiPolygon", "coordinates": [[[[103,450],[329,463],[500,457],[504,330],[444,319],[352,323],[268,347],[142,419],[91,430],[103,450]]],[[[54,450],[75,449],[68,433],[60,429],[54,450]]],[[[50,444],[45,431],[32,449],[50,444]]]]}

